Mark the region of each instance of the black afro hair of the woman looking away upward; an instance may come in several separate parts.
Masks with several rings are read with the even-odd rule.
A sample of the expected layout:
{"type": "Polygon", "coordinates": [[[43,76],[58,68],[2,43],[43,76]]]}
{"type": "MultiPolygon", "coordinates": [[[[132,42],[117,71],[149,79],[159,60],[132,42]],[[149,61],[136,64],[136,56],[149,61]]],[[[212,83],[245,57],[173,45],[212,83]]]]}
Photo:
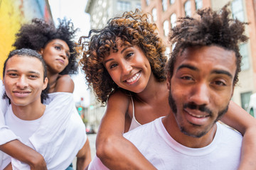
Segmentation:
{"type": "Polygon", "coordinates": [[[30,48],[39,51],[46,47],[48,42],[55,39],[65,41],[70,48],[70,57],[68,59],[68,66],[60,72],[60,74],[76,74],[78,72],[78,61],[76,60],[77,53],[75,51],[75,32],[73,23],[71,21],[58,20],[58,28],[55,28],[53,23],[46,23],[46,21],[34,18],[32,23],[24,24],[16,33],[16,41],[14,47],[16,49],[30,48]]]}

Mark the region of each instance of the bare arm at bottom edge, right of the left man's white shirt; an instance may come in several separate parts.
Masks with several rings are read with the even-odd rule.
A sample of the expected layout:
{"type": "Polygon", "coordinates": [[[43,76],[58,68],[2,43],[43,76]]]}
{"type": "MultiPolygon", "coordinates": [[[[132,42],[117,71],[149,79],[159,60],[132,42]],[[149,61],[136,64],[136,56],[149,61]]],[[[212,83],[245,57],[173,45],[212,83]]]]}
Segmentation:
{"type": "Polygon", "coordinates": [[[80,149],[77,154],[77,170],[85,169],[91,161],[92,157],[90,153],[90,143],[87,138],[85,145],[82,147],[82,149],[80,149]]]}

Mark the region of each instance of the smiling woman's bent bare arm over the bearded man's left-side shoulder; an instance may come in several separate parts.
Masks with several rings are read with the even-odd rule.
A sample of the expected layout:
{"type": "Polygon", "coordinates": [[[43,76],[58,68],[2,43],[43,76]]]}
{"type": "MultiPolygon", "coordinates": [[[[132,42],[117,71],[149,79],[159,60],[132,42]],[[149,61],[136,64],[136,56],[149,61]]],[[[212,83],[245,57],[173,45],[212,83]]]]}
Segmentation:
{"type": "Polygon", "coordinates": [[[123,137],[129,97],[117,91],[107,101],[96,140],[96,154],[109,169],[156,169],[123,137]]]}

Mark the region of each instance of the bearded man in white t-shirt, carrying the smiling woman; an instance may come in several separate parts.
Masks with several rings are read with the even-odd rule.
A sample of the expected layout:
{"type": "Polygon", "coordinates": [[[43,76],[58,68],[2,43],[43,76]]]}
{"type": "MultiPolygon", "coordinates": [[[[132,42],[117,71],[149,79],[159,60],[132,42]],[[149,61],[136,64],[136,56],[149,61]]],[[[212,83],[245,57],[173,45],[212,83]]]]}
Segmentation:
{"type": "MultiPolygon", "coordinates": [[[[244,23],[230,21],[227,6],[201,18],[181,18],[166,65],[171,113],[124,134],[156,169],[235,170],[242,135],[217,123],[238,82],[244,23]]],[[[93,159],[89,169],[106,169],[93,159]]]]}

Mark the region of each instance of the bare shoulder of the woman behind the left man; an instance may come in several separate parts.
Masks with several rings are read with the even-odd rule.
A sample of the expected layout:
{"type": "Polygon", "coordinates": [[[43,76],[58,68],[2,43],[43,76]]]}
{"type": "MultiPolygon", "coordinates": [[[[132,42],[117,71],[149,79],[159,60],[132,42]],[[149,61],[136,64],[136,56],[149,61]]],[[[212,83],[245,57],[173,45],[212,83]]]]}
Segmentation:
{"type": "Polygon", "coordinates": [[[75,88],[75,84],[73,79],[71,79],[70,75],[64,74],[58,77],[56,86],[55,86],[55,92],[73,93],[74,88],[75,88]]]}

